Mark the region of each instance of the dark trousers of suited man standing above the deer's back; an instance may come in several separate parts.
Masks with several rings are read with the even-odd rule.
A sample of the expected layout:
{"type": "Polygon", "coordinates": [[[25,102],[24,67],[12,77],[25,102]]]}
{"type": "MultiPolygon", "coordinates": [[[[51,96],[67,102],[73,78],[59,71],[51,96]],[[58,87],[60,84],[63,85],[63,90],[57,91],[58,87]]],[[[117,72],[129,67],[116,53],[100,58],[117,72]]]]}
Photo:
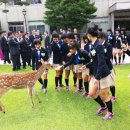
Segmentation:
{"type": "Polygon", "coordinates": [[[11,55],[12,63],[13,63],[13,70],[20,69],[20,55],[11,55]]]}

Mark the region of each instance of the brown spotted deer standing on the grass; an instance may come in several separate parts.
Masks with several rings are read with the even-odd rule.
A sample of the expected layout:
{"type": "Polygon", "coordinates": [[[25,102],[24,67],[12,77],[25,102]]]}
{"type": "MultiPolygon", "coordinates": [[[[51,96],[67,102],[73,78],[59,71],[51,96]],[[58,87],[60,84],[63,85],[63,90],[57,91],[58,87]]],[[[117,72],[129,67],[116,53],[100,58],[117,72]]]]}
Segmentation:
{"type": "MultiPolygon", "coordinates": [[[[41,77],[46,69],[46,63],[42,63],[38,70],[28,73],[5,73],[0,74],[0,98],[10,89],[23,89],[27,88],[31,100],[32,108],[34,108],[34,101],[32,93],[34,92],[38,102],[41,103],[37,91],[35,89],[36,81],[41,77]]],[[[4,105],[0,102],[0,111],[5,113],[4,105]]]]}

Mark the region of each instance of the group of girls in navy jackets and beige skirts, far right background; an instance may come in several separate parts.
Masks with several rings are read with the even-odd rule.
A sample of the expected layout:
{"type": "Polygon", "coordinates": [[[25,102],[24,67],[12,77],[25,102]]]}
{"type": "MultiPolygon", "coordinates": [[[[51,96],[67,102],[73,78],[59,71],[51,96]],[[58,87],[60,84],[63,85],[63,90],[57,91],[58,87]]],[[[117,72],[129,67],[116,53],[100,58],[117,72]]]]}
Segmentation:
{"type": "Polygon", "coordinates": [[[130,34],[126,34],[125,28],[117,28],[115,30],[115,34],[112,33],[111,29],[107,30],[107,37],[106,40],[112,45],[113,47],[113,60],[115,60],[115,65],[121,64],[125,59],[125,53],[122,50],[122,44],[125,44],[130,48],[130,34]],[[118,60],[117,60],[118,57],[118,60]]]}

